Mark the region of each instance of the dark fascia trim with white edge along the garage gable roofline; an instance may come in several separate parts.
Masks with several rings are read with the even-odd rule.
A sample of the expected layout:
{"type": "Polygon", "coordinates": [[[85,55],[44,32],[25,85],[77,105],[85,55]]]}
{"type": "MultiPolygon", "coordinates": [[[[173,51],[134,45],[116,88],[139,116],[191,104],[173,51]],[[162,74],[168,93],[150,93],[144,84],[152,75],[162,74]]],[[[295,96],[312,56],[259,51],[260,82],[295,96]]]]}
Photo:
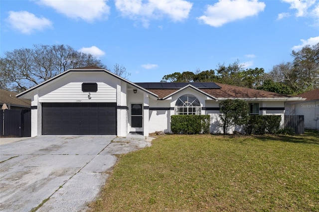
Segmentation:
{"type": "Polygon", "coordinates": [[[26,90],[26,91],[24,91],[24,92],[22,92],[22,93],[16,95],[16,98],[19,98],[19,97],[21,97],[21,96],[23,96],[23,95],[25,95],[25,94],[27,94],[27,93],[29,93],[29,92],[31,92],[31,91],[37,89],[37,88],[43,86],[43,85],[45,85],[45,84],[47,84],[47,83],[49,83],[49,82],[51,82],[51,81],[53,81],[53,80],[55,80],[55,79],[57,79],[57,78],[59,78],[59,77],[62,77],[62,76],[64,76],[64,75],[68,74],[69,72],[105,72],[105,73],[110,74],[110,75],[112,75],[113,77],[115,77],[115,78],[117,78],[117,79],[119,79],[119,80],[121,80],[121,81],[125,81],[126,83],[130,84],[131,86],[133,86],[133,87],[135,87],[135,88],[141,89],[141,90],[143,90],[144,92],[147,92],[148,94],[150,94],[150,95],[152,95],[152,96],[154,96],[154,97],[156,97],[156,98],[159,98],[156,94],[153,94],[152,92],[149,92],[148,90],[146,90],[146,89],[144,89],[144,88],[142,88],[142,87],[140,87],[140,86],[138,86],[138,85],[135,85],[134,83],[132,83],[132,82],[130,82],[130,81],[128,81],[128,80],[126,80],[126,79],[124,79],[124,78],[122,78],[122,77],[116,75],[116,74],[112,74],[110,71],[107,71],[107,70],[105,70],[105,69],[69,69],[69,70],[67,70],[67,71],[65,71],[65,72],[62,72],[61,74],[59,74],[59,75],[57,75],[57,76],[55,76],[55,77],[52,77],[51,79],[49,79],[49,80],[47,80],[47,81],[44,81],[43,83],[40,83],[40,84],[37,85],[37,86],[34,86],[33,88],[30,88],[30,89],[28,89],[28,90],[26,90]]]}

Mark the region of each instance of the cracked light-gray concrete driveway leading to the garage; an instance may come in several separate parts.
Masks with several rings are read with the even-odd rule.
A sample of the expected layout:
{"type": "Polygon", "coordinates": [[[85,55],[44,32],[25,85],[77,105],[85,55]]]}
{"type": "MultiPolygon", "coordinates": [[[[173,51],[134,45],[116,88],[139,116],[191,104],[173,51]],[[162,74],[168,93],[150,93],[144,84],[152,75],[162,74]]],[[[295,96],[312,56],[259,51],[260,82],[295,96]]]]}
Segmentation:
{"type": "Polygon", "coordinates": [[[28,212],[38,206],[38,212],[85,211],[116,155],[149,146],[149,141],[142,135],[56,135],[0,145],[0,211],[28,212]]]}

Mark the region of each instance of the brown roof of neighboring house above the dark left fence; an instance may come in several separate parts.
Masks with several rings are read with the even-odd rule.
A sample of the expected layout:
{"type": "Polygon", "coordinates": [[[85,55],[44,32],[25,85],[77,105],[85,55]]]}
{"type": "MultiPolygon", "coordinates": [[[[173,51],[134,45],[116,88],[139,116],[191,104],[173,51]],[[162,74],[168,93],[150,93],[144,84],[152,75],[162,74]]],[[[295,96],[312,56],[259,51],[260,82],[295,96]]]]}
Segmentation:
{"type": "Polygon", "coordinates": [[[31,101],[26,99],[18,99],[15,96],[18,93],[0,89],[0,105],[4,103],[11,106],[30,107],[31,101]]]}

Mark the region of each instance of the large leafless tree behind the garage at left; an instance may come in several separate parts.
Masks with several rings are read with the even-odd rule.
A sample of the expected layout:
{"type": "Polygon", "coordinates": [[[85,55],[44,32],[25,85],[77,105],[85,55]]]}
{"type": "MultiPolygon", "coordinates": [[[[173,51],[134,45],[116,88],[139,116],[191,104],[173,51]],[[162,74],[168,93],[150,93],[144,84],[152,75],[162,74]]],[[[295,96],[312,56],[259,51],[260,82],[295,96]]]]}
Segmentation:
{"type": "Polygon", "coordinates": [[[87,66],[107,69],[93,55],[78,52],[67,45],[15,49],[0,57],[0,88],[21,92],[68,69],[87,66]]]}

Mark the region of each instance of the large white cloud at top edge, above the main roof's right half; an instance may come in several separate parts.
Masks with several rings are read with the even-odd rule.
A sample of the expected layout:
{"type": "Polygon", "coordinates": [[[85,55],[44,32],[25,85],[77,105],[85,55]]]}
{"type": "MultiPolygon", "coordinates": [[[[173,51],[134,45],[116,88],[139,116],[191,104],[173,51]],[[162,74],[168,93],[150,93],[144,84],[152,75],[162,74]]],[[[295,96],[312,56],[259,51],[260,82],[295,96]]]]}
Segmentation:
{"type": "Polygon", "coordinates": [[[207,5],[204,15],[197,17],[210,26],[219,27],[225,23],[257,15],[266,4],[258,0],[219,0],[207,5]]]}

